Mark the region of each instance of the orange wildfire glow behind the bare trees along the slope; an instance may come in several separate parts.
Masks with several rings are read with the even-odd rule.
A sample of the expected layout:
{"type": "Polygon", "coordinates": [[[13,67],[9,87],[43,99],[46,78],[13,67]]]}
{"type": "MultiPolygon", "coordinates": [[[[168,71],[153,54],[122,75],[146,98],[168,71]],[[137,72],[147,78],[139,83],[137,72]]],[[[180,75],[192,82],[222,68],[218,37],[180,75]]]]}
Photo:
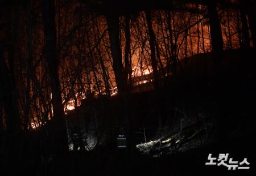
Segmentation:
{"type": "MultiPolygon", "coordinates": [[[[65,111],[80,106],[81,100],[90,95],[115,95],[117,83],[106,16],[90,11],[88,6],[79,1],[55,2],[56,51],[65,111]]],[[[40,3],[31,1],[30,8],[32,10],[28,11],[28,14],[20,10],[18,17],[19,40],[16,44],[16,55],[19,57],[15,57],[14,65],[23,128],[44,125],[53,117],[49,73],[46,71],[46,59],[43,57],[46,48],[40,3]],[[35,11],[39,13],[34,14],[35,11]],[[29,58],[32,58],[32,62],[29,58]],[[27,76],[28,73],[30,76],[27,76]],[[24,96],[26,92],[28,96],[24,96]],[[28,109],[24,109],[26,103],[29,104],[28,109]],[[28,124],[27,117],[30,122],[28,124]]],[[[240,48],[245,40],[242,38],[245,36],[245,30],[242,29],[245,23],[242,23],[242,20],[247,18],[241,19],[243,14],[239,8],[222,8],[217,5],[216,9],[224,49],[240,48]]],[[[155,49],[156,59],[153,65],[159,72],[159,78],[174,75],[172,65],[175,62],[179,63],[184,58],[212,51],[207,13],[206,5],[192,3],[177,6],[172,10],[152,10],[152,32],[155,35],[152,42],[155,45],[151,47],[146,12],[130,14],[131,82],[135,77],[153,73],[152,48],[155,49]]],[[[123,63],[121,70],[125,68],[127,45],[125,20],[125,15],[119,16],[119,41],[123,63]]],[[[2,33],[5,32],[1,32],[1,38],[5,36],[2,33]]],[[[250,45],[253,46],[252,41],[250,45]]],[[[147,82],[142,80],[140,83],[147,82]]],[[[132,91],[133,84],[128,85],[132,91]]]]}

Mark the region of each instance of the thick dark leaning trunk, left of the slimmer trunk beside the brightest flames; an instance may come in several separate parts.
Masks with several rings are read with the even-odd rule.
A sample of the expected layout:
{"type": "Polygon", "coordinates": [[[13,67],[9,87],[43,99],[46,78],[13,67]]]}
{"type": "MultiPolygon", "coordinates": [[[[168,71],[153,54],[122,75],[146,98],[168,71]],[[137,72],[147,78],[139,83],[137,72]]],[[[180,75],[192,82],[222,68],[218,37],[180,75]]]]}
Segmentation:
{"type": "MultiPolygon", "coordinates": [[[[113,8],[113,5],[110,5],[113,8]]],[[[113,57],[113,69],[115,74],[115,81],[117,83],[118,93],[126,92],[123,64],[122,64],[122,51],[119,41],[119,16],[114,12],[114,9],[110,9],[109,14],[106,15],[108,23],[109,40],[111,45],[112,57],[113,57]]]]}

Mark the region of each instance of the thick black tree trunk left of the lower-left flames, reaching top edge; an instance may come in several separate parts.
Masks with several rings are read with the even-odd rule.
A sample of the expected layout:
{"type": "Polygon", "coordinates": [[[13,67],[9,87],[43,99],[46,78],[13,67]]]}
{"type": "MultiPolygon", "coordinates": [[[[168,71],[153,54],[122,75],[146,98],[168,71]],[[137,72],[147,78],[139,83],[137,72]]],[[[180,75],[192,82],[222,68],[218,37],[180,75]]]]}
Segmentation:
{"type": "Polygon", "coordinates": [[[55,1],[42,0],[44,32],[46,37],[45,57],[49,72],[53,106],[53,152],[67,149],[64,106],[61,98],[59,81],[59,59],[56,52],[55,1]]]}

